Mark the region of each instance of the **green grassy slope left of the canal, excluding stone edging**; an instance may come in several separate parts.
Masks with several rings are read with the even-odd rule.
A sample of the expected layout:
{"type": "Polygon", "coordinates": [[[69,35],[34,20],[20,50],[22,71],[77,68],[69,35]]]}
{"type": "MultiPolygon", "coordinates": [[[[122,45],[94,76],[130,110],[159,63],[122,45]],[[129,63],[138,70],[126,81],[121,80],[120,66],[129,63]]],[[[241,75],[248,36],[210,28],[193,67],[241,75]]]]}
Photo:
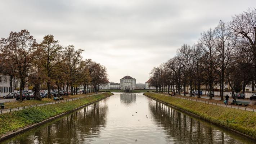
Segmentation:
{"type": "Polygon", "coordinates": [[[71,102],[44,105],[41,107],[32,107],[21,111],[14,111],[0,115],[0,137],[10,131],[15,131],[26,126],[47,120],[58,114],[71,111],[82,105],[94,102],[98,99],[112,95],[111,93],[102,93],[87,98],[73,100],[71,102]]]}

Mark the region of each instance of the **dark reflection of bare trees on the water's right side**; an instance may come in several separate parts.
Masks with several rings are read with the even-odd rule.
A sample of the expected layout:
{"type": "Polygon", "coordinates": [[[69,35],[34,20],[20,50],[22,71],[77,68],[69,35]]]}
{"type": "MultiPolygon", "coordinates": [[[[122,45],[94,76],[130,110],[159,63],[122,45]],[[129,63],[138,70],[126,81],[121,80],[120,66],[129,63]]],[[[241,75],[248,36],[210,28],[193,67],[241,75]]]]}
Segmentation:
{"type": "MultiPolygon", "coordinates": [[[[149,102],[153,120],[160,124],[170,141],[176,143],[238,143],[235,135],[215,129],[208,123],[187,116],[154,100],[149,102]]],[[[241,139],[239,139],[241,140],[241,139]]]]}

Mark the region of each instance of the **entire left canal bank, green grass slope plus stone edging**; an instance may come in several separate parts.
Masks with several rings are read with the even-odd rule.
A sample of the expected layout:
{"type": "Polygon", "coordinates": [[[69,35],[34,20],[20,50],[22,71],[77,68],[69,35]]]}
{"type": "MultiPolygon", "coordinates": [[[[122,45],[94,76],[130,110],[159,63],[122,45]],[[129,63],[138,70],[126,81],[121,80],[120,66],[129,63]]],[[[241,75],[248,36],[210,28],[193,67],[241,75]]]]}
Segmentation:
{"type": "Polygon", "coordinates": [[[91,97],[73,100],[65,103],[32,107],[21,111],[14,111],[0,115],[0,141],[9,139],[24,131],[33,129],[74,112],[82,107],[98,102],[112,93],[101,93],[91,97]]]}

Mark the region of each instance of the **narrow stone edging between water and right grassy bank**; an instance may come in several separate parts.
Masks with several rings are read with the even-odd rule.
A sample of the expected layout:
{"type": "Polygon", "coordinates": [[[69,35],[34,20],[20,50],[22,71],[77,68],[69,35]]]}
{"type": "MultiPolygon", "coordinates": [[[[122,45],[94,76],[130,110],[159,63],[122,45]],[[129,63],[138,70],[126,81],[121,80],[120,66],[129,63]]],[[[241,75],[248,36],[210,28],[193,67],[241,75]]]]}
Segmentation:
{"type": "Polygon", "coordinates": [[[153,97],[151,97],[151,96],[149,96],[149,95],[146,95],[145,93],[144,93],[143,95],[145,95],[145,96],[147,96],[148,98],[151,98],[151,99],[153,99],[153,100],[156,100],[156,101],[158,101],[158,102],[161,102],[161,103],[163,103],[163,104],[165,104],[165,105],[168,105],[169,107],[172,107],[172,108],[174,108],[174,109],[178,109],[179,111],[181,111],[181,112],[183,112],[183,113],[186,113],[186,114],[188,114],[188,115],[190,115],[190,116],[196,117],[196,118],[198,118],[199,120],[202,119],[202,120],[207,121],[207,122],[210,122],[210,123],[212,123],[212,124],[214,124],[214,125],[216,125],[216,126],[223,127],[223,128],[225,128],[225,129],[227,129],[227,130],[230,130],[230,131],[234,132],[235,134],[240,134],[240,135],[242,135],[242,136],[244,136],[244,137],[246,137],[246,138],[249,138],[249,139],[252,139],[252,140],[255,140],[255,141],[256,141],[256,138],[253,138],[252,136],[243,134],[242,132],[239,132],[239,131],[237,131],[237,130],[234,130],[234,129],[230,128],[230,127],[226,127],[226,126],[220,125],[220,124],[218,124],[218,123],[214,123],[214,122],[208,121],[206,118],[200,117],[200,116],[198,116],[197,114],[194,114],[194,113],[192,113],[192,112],[188,112],[188,111],[186,111],[186,110],[184,110],[184,109],[182,109],[182,108],[176,107],[176,106],[174,106],[174,105],[172,105],[172,104],[163,102],[162,100],[153,98],[153,97]]]}

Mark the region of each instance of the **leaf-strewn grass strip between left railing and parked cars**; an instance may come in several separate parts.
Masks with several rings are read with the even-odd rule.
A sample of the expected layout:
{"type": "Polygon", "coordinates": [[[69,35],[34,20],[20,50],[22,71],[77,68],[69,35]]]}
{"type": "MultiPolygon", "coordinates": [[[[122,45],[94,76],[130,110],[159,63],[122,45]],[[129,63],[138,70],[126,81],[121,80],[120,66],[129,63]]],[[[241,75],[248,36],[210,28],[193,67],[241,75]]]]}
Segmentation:
{"type": "MultiPolygon", "coordinates": [[[[72,99],[72,98],[77,98],[80,96],[85,96],[85,95],[91,95],[91,94],[95,94],[95,93],[88,93],[88,94],[78,94],[78,95],[65,95],[63,96],[64,99],[72,99]]],[[[55,100],[53,100],[53,98],[43,98],[42,100],[24,100],[22,101],[22,103],[20,103],[19,101],[16,102],[5,102],[5,109],[10,109],[10,108],[18,108],[18,107],[24,107],[24,106],[29,106],[29,105],[34,105],[34,104],[44,104],[44,103],[49,103],[49,102],[53,102],[55,100]]]]}

